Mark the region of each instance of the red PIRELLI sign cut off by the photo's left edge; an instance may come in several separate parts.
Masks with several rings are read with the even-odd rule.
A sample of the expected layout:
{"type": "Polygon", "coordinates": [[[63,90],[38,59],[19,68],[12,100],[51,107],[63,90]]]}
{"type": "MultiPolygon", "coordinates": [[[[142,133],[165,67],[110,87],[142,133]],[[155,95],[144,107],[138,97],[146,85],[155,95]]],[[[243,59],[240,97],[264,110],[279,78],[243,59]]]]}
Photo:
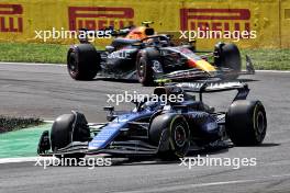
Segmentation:
{"type": "Polygon", "coordinates": [[[0,4],[0,32],[23,32],[21,4],[0,4]]]}

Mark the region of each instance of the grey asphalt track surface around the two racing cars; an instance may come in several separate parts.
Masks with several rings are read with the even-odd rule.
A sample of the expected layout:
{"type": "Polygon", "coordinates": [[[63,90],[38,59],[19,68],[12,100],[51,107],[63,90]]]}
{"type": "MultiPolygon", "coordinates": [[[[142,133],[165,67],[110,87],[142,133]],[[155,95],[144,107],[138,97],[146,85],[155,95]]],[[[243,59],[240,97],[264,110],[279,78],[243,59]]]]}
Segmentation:
{"type": "MultiPolygon", "coordinates": [[[[259,147],[233,147],[203,152],[214,158],[256,158],[257,166],[192,167],[149,160],[112,167],[35,167],[35,162],[1,163],[0,192],[290,192],[290,73],[257,72],[243,77],[268,116],[268,133],[259,147]]],[[[60,66],[0,65],[0,114],[36,115],[54,120],[71,109],[89,122],[104,122],[105,94],[152,92],[136,82],[103,79],[74,81],[60,66]]],[[[226,107],[233,93],[208,95],[210,104],[226,107]]],[[[122,104],[118,109],[130,109],[122,104]]],[[[12,141],[11,141],[12,143],[12,141]]],[[[204,156],[203,155],[203,156],[204,156]]]]}

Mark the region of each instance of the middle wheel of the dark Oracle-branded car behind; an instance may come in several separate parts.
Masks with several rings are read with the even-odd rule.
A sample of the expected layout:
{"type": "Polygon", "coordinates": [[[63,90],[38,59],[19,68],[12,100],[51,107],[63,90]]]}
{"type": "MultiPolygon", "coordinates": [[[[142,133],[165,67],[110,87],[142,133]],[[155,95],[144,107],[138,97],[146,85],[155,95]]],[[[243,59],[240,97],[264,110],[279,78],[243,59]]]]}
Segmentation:
{"type": "Polygon", "coordinates": [[[144,87],[154,86],[153,60],[159,59],[157,50],[141,50],[136,57],[136,73],[140,83],[144,87]]]}

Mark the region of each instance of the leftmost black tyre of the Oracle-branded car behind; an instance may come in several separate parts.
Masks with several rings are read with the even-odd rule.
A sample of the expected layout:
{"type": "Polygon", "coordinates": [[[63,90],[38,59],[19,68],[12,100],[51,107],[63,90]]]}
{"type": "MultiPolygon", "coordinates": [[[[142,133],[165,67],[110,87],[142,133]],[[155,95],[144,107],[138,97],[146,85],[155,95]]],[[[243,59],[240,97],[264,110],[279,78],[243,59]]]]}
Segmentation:
{"type": "Polygon", "coordinates": [[[100,54],[91,44],[78,44],[68,49],[67,70],[75,80],[92,80],[100,70],[100,54]]]}

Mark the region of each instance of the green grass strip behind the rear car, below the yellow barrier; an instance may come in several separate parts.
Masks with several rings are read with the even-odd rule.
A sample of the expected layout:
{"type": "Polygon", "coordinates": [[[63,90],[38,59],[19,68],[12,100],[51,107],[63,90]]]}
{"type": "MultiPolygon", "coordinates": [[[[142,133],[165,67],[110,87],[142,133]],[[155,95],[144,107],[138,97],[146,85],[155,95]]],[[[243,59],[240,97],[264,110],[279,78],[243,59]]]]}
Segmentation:
{"type": "MultiPolygon", "coordinates": [[[[68,45],[0,43],[0,61],[66,64],[68,45]]],[[[256,69],[290,70],[290,49],[242,49],[256,69]]]]}

